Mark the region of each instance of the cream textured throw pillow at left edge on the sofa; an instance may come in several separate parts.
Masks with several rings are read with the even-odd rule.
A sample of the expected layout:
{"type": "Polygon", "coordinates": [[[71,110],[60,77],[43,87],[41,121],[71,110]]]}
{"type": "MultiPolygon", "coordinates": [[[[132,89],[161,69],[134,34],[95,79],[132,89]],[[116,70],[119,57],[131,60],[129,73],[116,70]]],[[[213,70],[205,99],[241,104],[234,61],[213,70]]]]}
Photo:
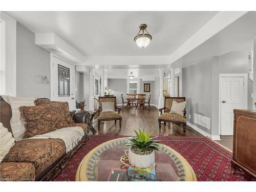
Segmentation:
{"type": "Polygon", "coordinates": [[[0,123],[0,162],[8,154],[14,145],[14,141],[15,139],[12,137],[12,134],[0,123]]]}

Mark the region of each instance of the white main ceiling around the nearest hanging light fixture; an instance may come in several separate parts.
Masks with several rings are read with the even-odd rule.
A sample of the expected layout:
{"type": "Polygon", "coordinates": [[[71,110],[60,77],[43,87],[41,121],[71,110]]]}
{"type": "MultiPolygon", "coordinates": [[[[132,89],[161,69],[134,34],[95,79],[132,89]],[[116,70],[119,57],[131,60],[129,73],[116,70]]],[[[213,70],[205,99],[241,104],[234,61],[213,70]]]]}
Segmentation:
{"type": "Polygon", "coordinates": [[[35,33],[55,33],[84,56],[170,55],[218,12],[210,11],[8,11],[35,33]],[[147,24],[150,46],[133,40],[147,24]]]}

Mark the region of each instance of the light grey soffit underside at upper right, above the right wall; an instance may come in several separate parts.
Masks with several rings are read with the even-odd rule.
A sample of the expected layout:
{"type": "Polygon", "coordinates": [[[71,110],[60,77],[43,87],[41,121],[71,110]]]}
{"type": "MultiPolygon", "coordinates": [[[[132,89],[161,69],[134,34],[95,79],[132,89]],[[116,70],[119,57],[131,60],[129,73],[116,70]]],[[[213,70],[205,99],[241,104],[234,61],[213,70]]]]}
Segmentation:
{"type": "Polygon", "coordinates": [[[205,58],[220,56],[231,51],[249,52],[253,49],[254,28],[255,12],[249,12],[170,66],[185,68],[205,58]]]}

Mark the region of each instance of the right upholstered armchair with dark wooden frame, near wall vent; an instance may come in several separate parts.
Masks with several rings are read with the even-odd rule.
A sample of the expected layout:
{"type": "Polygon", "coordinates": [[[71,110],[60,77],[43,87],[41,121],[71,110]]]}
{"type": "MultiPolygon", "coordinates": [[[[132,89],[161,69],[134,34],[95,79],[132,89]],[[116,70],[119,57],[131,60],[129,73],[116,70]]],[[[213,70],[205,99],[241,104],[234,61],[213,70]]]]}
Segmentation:
{"type": "Polygon", "coordinates": [[[182,124],[183,126],[183,132],[186,132],[186,110],[184,109],[183,116],[176,113],[170,113],[170,109],[172,109],[173,101],[176,101],[178,103],[183,102],[186,100],[185,97],[165,97],[164,99],[164,108],[159,109],[160,116],[158,118],[158,124],[159,124],[159,131],[161,131],[161,122],[164,122],[164,125],[166,125],[166,122],[176,123],[176,124],[182,124]],[[163,113],[164,111],[164,113],[163,113]]]}

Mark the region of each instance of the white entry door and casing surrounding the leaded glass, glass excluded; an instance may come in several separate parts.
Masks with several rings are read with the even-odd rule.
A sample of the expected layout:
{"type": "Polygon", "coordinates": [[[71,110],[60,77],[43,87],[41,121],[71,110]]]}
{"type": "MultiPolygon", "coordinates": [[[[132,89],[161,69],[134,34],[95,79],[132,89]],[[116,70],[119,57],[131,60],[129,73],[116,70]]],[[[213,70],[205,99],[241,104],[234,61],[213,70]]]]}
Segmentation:
{"type": "Polygon", "coordinates": [[[50,54],[50,71],[51,71],[51,100],[63,101],[69,103],[70,110],[76,110],[75,99],[75,66],[69,61],[60,58],[55,54],[50,54]],[[59,96],[58,91],[58,66],[63,66],[69,69],[69,95],[59,96]]]}

